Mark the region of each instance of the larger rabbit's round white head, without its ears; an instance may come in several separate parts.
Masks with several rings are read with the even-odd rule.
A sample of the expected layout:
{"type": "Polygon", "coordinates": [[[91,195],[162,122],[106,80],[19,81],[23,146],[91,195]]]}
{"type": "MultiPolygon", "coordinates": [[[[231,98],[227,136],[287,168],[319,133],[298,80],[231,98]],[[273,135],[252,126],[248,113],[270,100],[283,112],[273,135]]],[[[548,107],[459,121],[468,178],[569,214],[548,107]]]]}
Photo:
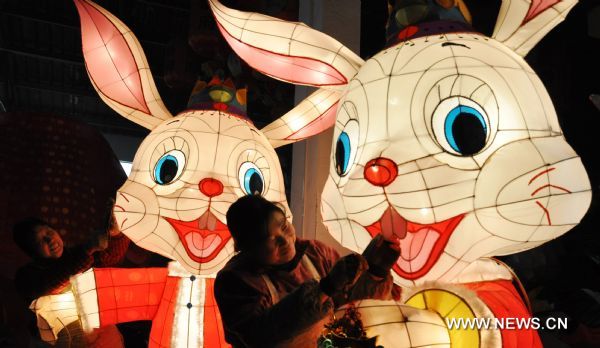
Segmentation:
{"type": "Polygon", "coordinates": [[[369,60],[341,102],[333,149],[325,224],[356,251],[377,233],[400,238],[394,270],[407,286],[554,239],[591,199],[535,73],[478,34],[415,39],[369,60]]]}

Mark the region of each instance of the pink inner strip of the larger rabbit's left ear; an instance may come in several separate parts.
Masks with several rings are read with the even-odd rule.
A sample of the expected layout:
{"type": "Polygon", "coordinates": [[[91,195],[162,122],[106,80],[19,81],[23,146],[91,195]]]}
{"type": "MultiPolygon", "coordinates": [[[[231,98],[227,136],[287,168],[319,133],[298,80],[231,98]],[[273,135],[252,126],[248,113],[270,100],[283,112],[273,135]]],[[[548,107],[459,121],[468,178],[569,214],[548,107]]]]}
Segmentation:
{"type": "Polygon", "coordinates": [[[218,24],[231,48],[254,69],[284,81],[311,85],[345,85],[348,80],[330,64],[313,58],[286,56],[250,46],[231,36],[218,24]]]}

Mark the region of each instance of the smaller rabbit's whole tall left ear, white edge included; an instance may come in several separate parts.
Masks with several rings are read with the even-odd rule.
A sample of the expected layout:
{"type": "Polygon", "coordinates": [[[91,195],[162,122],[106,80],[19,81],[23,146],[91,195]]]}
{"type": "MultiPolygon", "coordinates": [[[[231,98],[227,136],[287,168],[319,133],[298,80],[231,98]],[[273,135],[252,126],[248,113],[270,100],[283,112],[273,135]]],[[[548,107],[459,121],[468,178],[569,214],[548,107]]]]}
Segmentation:
{"type": "Polygon", "coordinates": [[[75,0],[75,5],[86,69],[102,100],[148,129],[173,117],[158,95],[146,56],[131,30],[91,1],[75,0]]]}

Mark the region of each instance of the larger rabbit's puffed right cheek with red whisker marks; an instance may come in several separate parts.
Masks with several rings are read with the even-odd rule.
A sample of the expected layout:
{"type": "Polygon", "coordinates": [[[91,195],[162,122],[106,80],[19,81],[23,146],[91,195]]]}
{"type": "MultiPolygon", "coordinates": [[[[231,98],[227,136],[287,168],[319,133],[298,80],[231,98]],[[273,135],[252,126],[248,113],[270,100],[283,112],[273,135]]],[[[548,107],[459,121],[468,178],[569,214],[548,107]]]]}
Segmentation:
{"type": "Polygon", "coordinates": [[[477,220],[514,241],[497,254],[532,248],[567,232],[590,202],[585,169],[562,137],[509,143],[490,156],[475,190],[477,220]]]}

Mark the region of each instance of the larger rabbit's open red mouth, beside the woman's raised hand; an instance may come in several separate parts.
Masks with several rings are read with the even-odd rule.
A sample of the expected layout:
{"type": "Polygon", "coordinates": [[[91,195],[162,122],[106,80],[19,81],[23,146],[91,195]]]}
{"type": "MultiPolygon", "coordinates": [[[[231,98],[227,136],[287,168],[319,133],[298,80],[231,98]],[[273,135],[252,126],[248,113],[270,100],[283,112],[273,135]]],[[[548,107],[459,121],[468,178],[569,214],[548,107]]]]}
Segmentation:
{"type": "Polygon", "coordinates": [[[418,279],[427,274],[440,258],[448,239],[464,214],[434,224],[422,225],[404,219],[393,207],[388,207],[381,218],[366,230],[372,237],[381,233],[384,237],[400,240],[400,257],[394,271],[405,279],[418,279]]]}

